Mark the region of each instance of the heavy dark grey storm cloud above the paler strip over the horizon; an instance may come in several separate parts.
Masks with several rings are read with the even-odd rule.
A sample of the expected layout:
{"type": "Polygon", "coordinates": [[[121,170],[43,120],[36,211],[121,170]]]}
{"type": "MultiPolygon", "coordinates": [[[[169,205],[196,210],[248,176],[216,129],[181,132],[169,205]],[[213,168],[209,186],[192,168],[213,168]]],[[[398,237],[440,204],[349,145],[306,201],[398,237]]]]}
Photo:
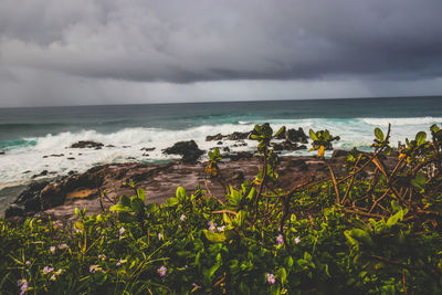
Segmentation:
{"type": "Polygon", "coordinates": [[[172,83],[439,77],[441,11],[440,0],[3,0],[0,67],[172,83]]]}

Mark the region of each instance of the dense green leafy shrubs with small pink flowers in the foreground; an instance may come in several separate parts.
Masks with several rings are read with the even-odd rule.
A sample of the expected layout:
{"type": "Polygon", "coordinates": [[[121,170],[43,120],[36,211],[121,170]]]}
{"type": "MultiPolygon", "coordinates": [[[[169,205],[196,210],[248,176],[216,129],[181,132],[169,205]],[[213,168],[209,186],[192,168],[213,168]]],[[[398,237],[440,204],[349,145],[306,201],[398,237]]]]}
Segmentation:
{"type": "MultiPolygon", "coordinates": [[[[288,191],[271,148],[283,130],[255,127],[260,173],[222,199],[178,188],[146,204],[131,182],[134,196],[98,215],[77,209],[71,226],[0,221],[2,294],[442,293],[442,130],[386,166],[390,128],[377,128],[373,152],[352,150],[345,177],[324,159],[339,138],[311,130],[329,177],[288,191]]],[[[224,183],[219,150],[209,157],[208,177],[224,183]]]]}

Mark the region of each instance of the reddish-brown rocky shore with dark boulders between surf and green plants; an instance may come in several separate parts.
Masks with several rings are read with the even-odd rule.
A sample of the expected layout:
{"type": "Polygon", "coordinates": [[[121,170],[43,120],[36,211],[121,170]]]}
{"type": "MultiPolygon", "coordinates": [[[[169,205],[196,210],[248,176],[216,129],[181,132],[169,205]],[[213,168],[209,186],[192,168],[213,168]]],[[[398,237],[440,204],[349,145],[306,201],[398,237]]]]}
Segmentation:
{"type": "MultiPolygon", "coordinates": [[[[207,141],[235,140],[236,145],[246,145],[253,134],[233,133],[230,135],[217,134],[207,136],[207,141]]],[[[302,128],[288,129],[281,134],[273,144],[275,152],[284,150],[306,149],[308,137],[302,128]]],[[[105,146],[95,141],[78,141],[70,148],[101,149],[105,146]]],[[[146,148],[151,151],[155,148],[146,148]]],[[[228,147],[222,149],[223,161],[220,168],[225,182],[234,187],[241,186],[244,180],[252,181],[259,172],[260,162],[250,151],[230,152],[228,147]]],[[[183,187],[190,193],[197,186],[207,190],[208,194],[223,198],[224,189],[220,181],[211,179],[206,172],[206,162],[198,161],[206,151],[199,149],[193,140],[179,141],[172,147],[162,150],[167,155],[180,155],[181,160],[167,164],[108,164],[94,167],[84,173],[70,172],[67,176],[46,180],[34,180],[6,209],[4,218],[20,221],[27,217],[46,218],[69,221],[74,218],[75,208],[87,208],[90,213],[99,213],[118,201],[119,196],[134,194],[134,189],[126,185],[134,181],[146,190],[148,202],[162,203],[175,196],[178,187],[183,187]]],[[[335,150],[330,161],[336,173],[345,172],[344,164],[347,151],[335,150]]],[[[60,155],[51,155],[51,157],[60,155]]],[[[322,178],[328,173],[323,160],[308,156],[282,156],[278,168],[280,186],[291,188],[307,179],[322,178]]],[[[48,171],[33,177],[49,176],[48,171]]]]}

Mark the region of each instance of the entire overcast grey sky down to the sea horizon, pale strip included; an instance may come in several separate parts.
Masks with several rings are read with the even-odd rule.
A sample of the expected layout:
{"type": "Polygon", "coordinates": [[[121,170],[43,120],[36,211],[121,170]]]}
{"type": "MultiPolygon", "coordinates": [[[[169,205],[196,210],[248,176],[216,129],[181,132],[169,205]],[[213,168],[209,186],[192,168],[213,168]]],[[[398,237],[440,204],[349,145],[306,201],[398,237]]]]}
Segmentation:
{"type": "Polygon", "coordinates": [[[442,95],[441,0],[0,0],[0,107],[442,95]]]}

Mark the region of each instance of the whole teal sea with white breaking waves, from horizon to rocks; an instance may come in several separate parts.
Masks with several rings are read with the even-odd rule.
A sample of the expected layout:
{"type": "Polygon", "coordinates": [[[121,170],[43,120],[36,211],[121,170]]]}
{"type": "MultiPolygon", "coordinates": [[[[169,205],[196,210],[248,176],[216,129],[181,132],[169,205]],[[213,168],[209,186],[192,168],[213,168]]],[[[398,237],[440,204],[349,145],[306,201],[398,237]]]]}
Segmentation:
{"type": "MultiPolygon", "coordinates": [[[[391,124],[396,146],[442,124],[442,96],[0,108],[0,204],[17,192],[12,188],[30,181],[110,162],[170,161],[177,156],[161,150],[177,141],[193,139],[209,150],[218,143],[206,136],[250,131],[264,123],[275,130],[302,127],[306,134],[328,129],[340,136],[335,148],[369,151],[376,127],[387,131],[391,124]],[[78,140],[108,147],[69,148],[78,140]],[[35,177],[42,171],[46,175],[35,177]]],[[[255,141],[245,141],[248,146],[229,140],[222,146],[233,152],[255,149],[255,141]]]]}

